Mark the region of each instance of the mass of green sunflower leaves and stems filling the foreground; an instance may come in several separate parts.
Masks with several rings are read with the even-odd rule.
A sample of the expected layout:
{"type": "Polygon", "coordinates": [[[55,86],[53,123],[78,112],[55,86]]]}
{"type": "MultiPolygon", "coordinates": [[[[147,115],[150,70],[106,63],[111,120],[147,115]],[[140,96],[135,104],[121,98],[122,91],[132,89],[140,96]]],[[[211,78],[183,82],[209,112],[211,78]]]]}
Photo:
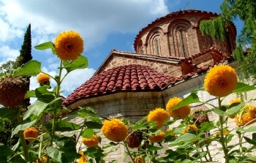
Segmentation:
{"type": "MultiPolygon", "coordinates": [[[[49,42],[37,45],[36,48],[39,50],[50,48],[53,53],[55,52],[53,43],[49,42]]],[[[98,133],[101,132],[104,125],[103,121],[113,121],[113,118],[99,115],[90,107],[79,107],[75,112],[69,112],[66,109],[65,112],[67,114],[62,114],[65,109],[62,105],[61,97],[62,81],[69,72],[83,69],[87,66],[88,61],[85,56],[79,56],[74,61],[62,61],[60,59],[59,75],[57,77],[49,75],[56,82],[56,87],[51,89],[46,84],[39,86],[35,90],[28,91],[26,98],[35,97],[37,99],[29,105],[26,113],[21,114],[21,107],[0,109],[0,130],[10,132],[12,137],[16,135],[19,137],[19,140],[15,142],[12,148],[8,145],[0,144],[0,162],[39,162],[44,158],[47,160],[45,162],[105,162],[106,156],[116,152],[117,145],[123,145],[126,148],[124,162],[135,163],[135,160],[137,162],[140,160],[140,162],[153,163],[214,162],[218,160],[214,160],[215,153],[209,150],[212,143],[221,145],[218,152],[223,153],[227,163],[256,161],[255,156],[249,155],[249,153],[255,151],[256,145],[255,126],[249,126],[249,124],[255,122],[256,110],[246,110],[246,113],[252,114],[253,117],[248,124],[230,127],[227,125],[227,121],[230,120],[231,115],[238,116],[238,121],[239,117],[245,115],[245,111],[242,109],[245,102],[241,102],[239,105],[227,106],[223,104],[225,97],[217,97],[218,105],[215,106],[211,103],[200,101],[198,92],[204,91],[204,88],[192,91],[185,99],[181,99],[178,104],[169,108],[169,110],[179,110],[194,103],[211,106],[210,110],[202,112],[202,115],[197,118],[192,115],[182,119],[179,119],[179,117],[170,118],[162,124],[162,121],[160,121],[161,114],[165,117],[166,112],[157,110],[157,112],[151,112],[151,114],[157,115],[157,118],[155,118],[157,121],[152,121],[151,118],[148,119],[148,116],[140,118],[138,121],[130,121],[129,118],[120,119],[118,125],[105,126],[105,130],[108,130],[108,134],[116,137],[118,135],[115,133],[118,134],[119,131],[113,129],[115,133],[111,133],[109,129],[115,128],[115,126],[119,128],[122,126],[126,133],[127,129],[129,129],[128,135],[124,140],[109,141],[107,145],[102,145],[101,137],[97,137],[96,142],[98,143],[99,140],[99,145],[89,143],[90,147],[82,148],[81,137],[86,138],[87,142],[95,134],[102,135],[98,133]],[[67,70],[66,74],[63,74],[63,69],[67,70]],[[217,120],[208,121],[207,118],[203,119],[203,115],[208,112],[216,113],[217,120]],[[46,119],[46,115],[50,116],[49,120],[46,119]],[[68,118],[72,117],[82,118],[83,123],[79,125],[67,121],[68,118]],[[17,122],[15,122],[12,130],[4,129],[3,124],[14,119],[17,119],[17,122]],[[149,121],[146,121],[147,119],[149,121]],[[198,124],[197,121],[200,121],[200,123],[198,124]],[[158,124],[159,122],[161,125],[158,124]],[[28,132],[28,128],[31,126],[37,129],[38,136],[37,134],[30,134],[33,137],[27,137],[28,134],[26,134],[26,137],[24,137],[24,130],[28,132]],[[169,129],[165,132],[163,131],[164,128],[169,129]],[[210,132],[214,133],[209,134],[210,132]],[[245,136],[246,133],[252,133],[252,137],[245,136]],[[153,137],[153,139],[150,137],[153,137]],[[234,138],[238,139],[235,144],[231,141],[234,138]],[[250,146],[246,146],[246,143],[250,146]]],[[[48,75],[46,72],[42,72],[39,61],[31,60],[22,67],[15,69],[12,75],[31,76],[39,74],[48,75]]],[[[255,89],[255,86],[238,83],[232,94],[255,89]]],[[[113,160],[111,162],[117,161],[113,160]]]]}

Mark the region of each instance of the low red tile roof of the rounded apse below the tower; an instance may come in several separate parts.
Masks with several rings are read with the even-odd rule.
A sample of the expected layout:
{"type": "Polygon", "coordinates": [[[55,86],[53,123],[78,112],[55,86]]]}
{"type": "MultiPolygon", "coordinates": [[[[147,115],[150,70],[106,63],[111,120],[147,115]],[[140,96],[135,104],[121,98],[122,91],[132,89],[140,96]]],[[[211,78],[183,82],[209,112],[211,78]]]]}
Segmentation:
{"type": "Polygon", "coordinates": [[[118,91],[160,91],[180,80],[183,77],[171,77],[139,64],[114,67],[91,77],[67,96],[63,105],[118,91]]]}

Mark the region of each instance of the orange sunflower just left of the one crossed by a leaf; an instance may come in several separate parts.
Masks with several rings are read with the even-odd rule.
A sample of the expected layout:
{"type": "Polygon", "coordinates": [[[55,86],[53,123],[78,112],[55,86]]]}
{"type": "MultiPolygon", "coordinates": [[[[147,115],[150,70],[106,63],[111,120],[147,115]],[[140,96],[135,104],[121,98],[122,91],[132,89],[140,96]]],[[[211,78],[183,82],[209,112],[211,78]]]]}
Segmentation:
{"type": "Polygon", "coordinates": [[[162,127],[162,124],[167,121],[167,118],[167,111],[160,107],[150,111],[148,114],[148,121],[157,121],[157,126],[155,126],[156,129],[160,129],[162,127]]]}

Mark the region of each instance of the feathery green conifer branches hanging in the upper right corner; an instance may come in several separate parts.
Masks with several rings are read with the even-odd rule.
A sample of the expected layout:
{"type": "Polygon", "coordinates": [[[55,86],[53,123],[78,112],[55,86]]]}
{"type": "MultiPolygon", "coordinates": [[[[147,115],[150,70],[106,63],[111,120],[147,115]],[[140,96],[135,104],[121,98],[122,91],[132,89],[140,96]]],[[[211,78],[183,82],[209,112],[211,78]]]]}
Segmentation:
{"type": "Polygon", "coordinates": [[[244,79],[256,80],[256,1],[224,0],[220,6],[222,14],[200,24],[203,34],[210,34],[217,39],[225,39],[226,27],[239,18],[244,22],[241,34],[236,40],[233,58],[238,61],[238,69],[244,79]]]}

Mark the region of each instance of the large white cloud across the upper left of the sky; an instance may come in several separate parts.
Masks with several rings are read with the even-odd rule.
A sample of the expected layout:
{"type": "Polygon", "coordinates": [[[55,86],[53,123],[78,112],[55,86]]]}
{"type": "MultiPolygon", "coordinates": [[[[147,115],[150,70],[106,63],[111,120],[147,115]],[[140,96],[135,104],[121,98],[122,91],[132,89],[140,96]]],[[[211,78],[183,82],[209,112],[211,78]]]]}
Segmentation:
{"type": "Polygon", "coordinates": [[[82,34],[87,48],[104,41],[113,31],[137,32],[145,22],[168,12],[165,0],[110,0],[108,3],[105,0],[1,2],[4,24],[18,30],[31,23],[34,44],[52,40],[61,31],[75,30],[82,34]]]}

